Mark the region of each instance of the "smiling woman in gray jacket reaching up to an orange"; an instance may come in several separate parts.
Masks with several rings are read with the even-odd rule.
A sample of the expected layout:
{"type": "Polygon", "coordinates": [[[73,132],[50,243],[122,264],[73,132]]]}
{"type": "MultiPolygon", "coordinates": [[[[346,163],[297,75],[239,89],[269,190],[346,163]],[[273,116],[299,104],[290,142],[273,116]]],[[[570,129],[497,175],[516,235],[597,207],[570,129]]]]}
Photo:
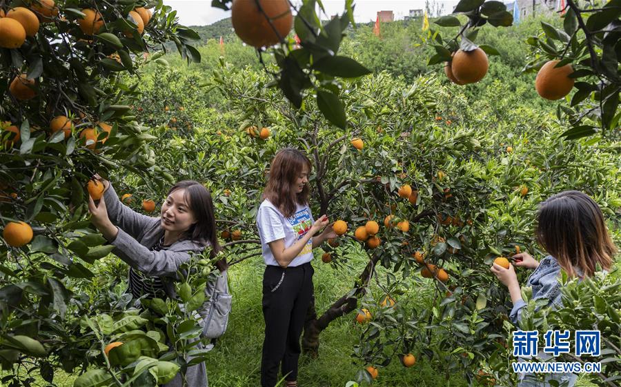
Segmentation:
{"type": "MultiPolygon", "coordinates": [[[[100,179],[103,197],[95,204],[89,197],[92,224],[115,246],[115,255],[129,266],[129,291],[135,298],[175,298],[175,277],[179,266],[193,253],[211,246],[219,251],[213,201],[209,191],[197,181],[179,181],[168,190],[159,217],[135,212],[119,200],[110,183],[100,179]]],[[[190,387],[206,387],[204,364],[186,371],[190,387]]],[[[169,387],[181,386],[177,375],[169,387]]]]}

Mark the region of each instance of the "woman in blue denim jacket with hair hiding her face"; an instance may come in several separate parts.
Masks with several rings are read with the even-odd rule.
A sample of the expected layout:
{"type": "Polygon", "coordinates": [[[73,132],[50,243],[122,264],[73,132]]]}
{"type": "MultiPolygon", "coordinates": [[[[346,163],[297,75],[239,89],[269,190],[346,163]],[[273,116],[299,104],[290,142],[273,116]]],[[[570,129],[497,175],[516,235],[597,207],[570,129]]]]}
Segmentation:
{"type": "MultiPolygon", "coordinates": [[[[522,299],[520,284],[517,282],[513,266],[534,269],[526,286],[533,288],[533,299],[549,300],[552,308],[562,306],[560,271],[569,277],[591,277],[599,264],[604,270],[612,266],[616,248],[608,234],[604,215],[598,204],[579,191],[564,191],[540,204],[537,212],[535,231],[538,244],[549,253],[542,261],[536,261],[526,252],[514,255],[513,265],[508,269],[494,264],[491,271],[500,279],[511,295],[513,309],[511,321],[518,324],[526,303],[522,299]]],[[[543,353],[538,357],[545,359],[543,353]]],[[[533,374],[520,375],[519,387],[551,386],[550,381],[558,381],[560,386],[575,384],[575,374],[547,374],[544,381],[533,374]]]]}

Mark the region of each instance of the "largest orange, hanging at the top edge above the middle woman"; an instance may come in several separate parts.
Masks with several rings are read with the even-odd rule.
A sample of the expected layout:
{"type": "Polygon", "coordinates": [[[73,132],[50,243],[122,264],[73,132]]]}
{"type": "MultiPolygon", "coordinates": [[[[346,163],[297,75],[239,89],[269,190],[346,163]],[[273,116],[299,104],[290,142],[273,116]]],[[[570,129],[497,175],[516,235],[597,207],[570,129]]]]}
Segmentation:
{"type": "Polygon", "coordinates": [[[256,48],[279,43],[293,27],[288,0],[234,0],[230,11],[235,34],[256,48]]]}

